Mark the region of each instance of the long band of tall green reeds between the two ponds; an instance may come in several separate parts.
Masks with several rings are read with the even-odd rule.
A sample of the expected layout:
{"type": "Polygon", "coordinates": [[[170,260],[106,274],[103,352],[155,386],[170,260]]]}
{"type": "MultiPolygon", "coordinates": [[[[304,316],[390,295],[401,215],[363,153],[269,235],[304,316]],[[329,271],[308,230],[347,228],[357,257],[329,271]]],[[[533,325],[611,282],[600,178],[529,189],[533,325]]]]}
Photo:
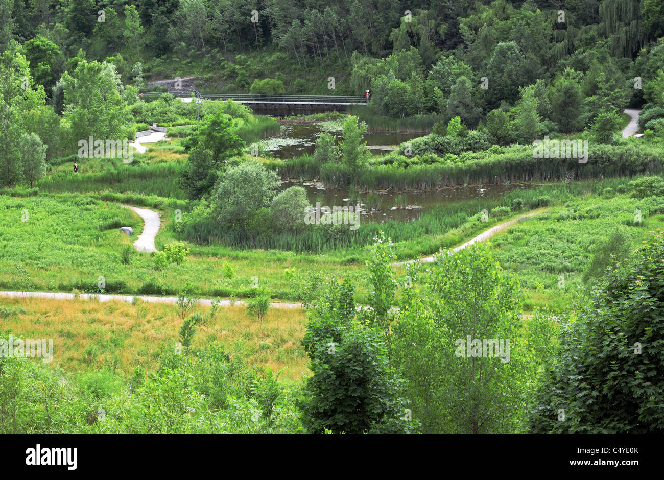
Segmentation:
{"type": "Polygon", "coordinates": [[[284,179],[317,179],[329,189],[355,185],[359,191],[423,191],[477,183],[586,181],[653,175],[664,171],[663,153],[654,145],[600,144],[590,147],[588,163],[578,163],[578,159],[535,158],[532,147],[516,145],[502,153],[466,152],[453,156],[454,160],[426,155],[428,161],[435,163],[411,164],[406,168],[398,164],[373,165],[355,174],[341,163],[321,165],[309,155],[267,166],[276,169],[284,179]]]}

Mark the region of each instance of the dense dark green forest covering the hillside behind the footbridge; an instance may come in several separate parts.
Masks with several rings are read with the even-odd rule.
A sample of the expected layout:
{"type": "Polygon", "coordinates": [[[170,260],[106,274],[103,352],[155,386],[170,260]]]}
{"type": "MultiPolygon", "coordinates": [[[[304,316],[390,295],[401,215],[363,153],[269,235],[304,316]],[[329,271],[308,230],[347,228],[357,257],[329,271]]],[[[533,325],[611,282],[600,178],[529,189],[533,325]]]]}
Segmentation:
{"type": "Polygon", "coordinates": [[[82,49],[139,86],[207,75],[204,85],[240,92],[275,76],[288,92],[322,92],[335,76],[335,90],[362,94],[396,81],[392,90],[426,99],[418,112],[436,110],[461,75],[516,77],[506,97],[490,89],[489,106],[566,67],[647,78],[656,69],[633,60],[664,33],[657,0],[2,0],[0,18],[0,50],[23,44],[49,97],[82,49]]]}

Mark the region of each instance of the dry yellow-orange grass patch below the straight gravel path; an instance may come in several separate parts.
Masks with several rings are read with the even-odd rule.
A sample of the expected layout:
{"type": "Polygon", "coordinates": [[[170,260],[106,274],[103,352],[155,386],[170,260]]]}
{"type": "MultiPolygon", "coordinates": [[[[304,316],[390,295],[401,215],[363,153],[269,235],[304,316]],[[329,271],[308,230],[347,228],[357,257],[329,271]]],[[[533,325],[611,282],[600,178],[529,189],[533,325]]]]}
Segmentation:
{"type": "MultiPolygon", "coordinates": [[[[179,341],[182,325],[177,307],[167,303],[27,298],[2,299],[0,305],[25,309],[25,313],[0,317],[0,332],[10,331],[23,339],[52,339],[52,364],[68,371],[110,368],[116,358],[118,372],[126,376],[138,365],[153,370],[159,353],[179,341]],[[88,355],[90,348],[92,355],[88,355]]],[[[209,307],[196,309],[205,316],[209,307]]],[[[283,369],[282,380],[299,381],[307,372],[307,356],[300,344],[306,323],[303,311],[270,309],[263,323],[241,305],[218,312],[216,321],[199,325],[193,347],[218,341],[229,352],[244,352],[250,367],[283,369]]]]}

